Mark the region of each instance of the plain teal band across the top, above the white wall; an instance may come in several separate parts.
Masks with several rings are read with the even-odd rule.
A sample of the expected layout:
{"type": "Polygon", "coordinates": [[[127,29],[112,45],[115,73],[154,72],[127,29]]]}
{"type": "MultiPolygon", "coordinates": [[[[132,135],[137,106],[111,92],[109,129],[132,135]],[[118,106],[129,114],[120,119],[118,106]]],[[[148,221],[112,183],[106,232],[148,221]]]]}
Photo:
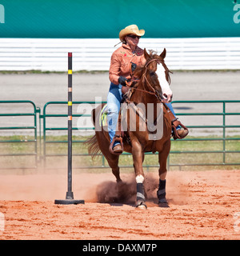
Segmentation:
{"type": "Polygon", "coordinates": [[[118,38],[130,24],[145,29],[146,38],[240,36],[240,23],[234,22],[240,22],[240,13],[233,0],[1,0],[0,4],[1,38],[118,38]]]}

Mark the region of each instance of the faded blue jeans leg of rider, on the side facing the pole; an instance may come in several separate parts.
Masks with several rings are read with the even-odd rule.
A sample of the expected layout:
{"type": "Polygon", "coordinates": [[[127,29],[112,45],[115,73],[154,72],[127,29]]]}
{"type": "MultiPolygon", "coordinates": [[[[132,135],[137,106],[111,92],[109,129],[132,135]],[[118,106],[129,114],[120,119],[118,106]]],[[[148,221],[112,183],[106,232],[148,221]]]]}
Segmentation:
{"type": "MultiPolygon", "coordinates": [[[[116,127],[118,124],[118,114],[121,107],[122,100],[122,85],[115,85],[113,82],[110,83],[110,89],[107,94],[107,127],[110,136],[110,142],[113,141],[116,127]]],[[[114,143],[114,146],[117,144],[114,143]]]]}

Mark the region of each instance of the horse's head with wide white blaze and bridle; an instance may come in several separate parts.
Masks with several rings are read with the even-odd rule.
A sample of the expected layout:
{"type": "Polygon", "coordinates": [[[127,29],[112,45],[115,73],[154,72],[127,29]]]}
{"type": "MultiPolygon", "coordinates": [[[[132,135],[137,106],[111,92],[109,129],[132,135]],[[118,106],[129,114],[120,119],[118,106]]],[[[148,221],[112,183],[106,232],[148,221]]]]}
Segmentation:
{"type": "Polygon", "coordinates": [[[160,55],[155,54],[153,50],[148,54],[144,49],[144,57],[146,70],[143,75],[146,76],[146,81],[149,81],[148,87],[152,86],[162,96],[163,102],[171,102],[173,93],[170,90],[170,70],[164,62],[166,49],[164,48],[160,55]]]}

